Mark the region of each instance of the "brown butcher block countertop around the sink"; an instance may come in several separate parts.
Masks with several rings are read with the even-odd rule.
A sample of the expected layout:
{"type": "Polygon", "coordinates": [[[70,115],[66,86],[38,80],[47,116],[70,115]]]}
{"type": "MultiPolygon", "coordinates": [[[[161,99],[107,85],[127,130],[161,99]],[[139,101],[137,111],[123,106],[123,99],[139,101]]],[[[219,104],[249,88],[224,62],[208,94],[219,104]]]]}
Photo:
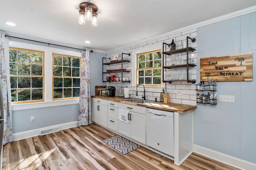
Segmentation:
{"type": "Polygon", "coordinates": [[[113,102],[120,102],[120,103],[132,104],[132,105],[137,105],[137,106],[143,106],[143,107],[148,107],[148,108],[152,108],[152,109],[159,109],[159,110],[165,110],[165,111],[176,111],[178,113],[184,113],[186,111],[196,109],[196,106],[187,105],[187,104],[163,103],[163,102],[154,102],[154,103],[150,103],[150,104],[140,104],[140,103],[137,104],[134,102],[123,101],[125,98],[119,98],[119,97],[92,96],[92,98],[98,98],[98,99],[110,100],[113,102]]]}

